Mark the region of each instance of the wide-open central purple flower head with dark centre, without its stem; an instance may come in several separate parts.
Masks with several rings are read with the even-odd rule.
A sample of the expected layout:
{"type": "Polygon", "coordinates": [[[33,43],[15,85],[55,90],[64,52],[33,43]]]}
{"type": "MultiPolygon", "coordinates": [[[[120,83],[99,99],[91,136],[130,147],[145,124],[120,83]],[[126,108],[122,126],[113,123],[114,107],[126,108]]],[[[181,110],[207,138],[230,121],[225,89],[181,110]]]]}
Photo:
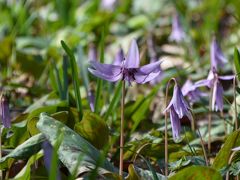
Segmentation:
{"type": "Polygon", "coordinates": [[[160,63],[161,61],[157,61],[155,63],[139,67],[140,57],[138,46],[136,41],[133,40],[126,60],[124,60],[121,65],[101,64],[97,61],[91,61],[91,67],[88,68],[88,70],[93,75],[110,82],[124,80],[129,83],[136,81],[137,83],[144,84],[159,75],[161,72],[160,63]]]}

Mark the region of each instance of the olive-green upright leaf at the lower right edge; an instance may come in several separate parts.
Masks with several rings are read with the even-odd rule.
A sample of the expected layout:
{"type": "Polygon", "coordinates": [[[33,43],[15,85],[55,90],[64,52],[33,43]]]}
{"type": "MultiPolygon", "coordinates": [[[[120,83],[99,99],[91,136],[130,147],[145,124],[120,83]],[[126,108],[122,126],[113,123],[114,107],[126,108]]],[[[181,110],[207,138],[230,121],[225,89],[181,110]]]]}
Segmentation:
{"type": "Polygon", "coordinates": [[[234,147],[240,146],[240,130],[234,131],[233,133],[231,133],[223,147],[221,148],[221,150],[218,152],[214,162],[213,162],[213,167],[220,170],[221,168],[223,168],[224,166],[226,166],[228,164],[228,160],[229,157],[232,153],[232,149],[234,147]]]}

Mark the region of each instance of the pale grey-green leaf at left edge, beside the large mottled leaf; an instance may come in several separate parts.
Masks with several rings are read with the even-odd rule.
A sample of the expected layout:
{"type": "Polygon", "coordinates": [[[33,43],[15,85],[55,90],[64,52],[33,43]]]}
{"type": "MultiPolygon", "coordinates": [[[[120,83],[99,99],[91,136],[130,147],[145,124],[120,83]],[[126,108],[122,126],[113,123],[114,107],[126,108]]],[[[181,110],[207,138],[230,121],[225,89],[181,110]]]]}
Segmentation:
{"type": "Polygon", "coordinates": [[[8,155],[0,159],[0,168],[7,167],[11,159],[28,159],[41,149],[42,142],[46,140],[43,134],[35,135],[16,147],[8,155]]]}

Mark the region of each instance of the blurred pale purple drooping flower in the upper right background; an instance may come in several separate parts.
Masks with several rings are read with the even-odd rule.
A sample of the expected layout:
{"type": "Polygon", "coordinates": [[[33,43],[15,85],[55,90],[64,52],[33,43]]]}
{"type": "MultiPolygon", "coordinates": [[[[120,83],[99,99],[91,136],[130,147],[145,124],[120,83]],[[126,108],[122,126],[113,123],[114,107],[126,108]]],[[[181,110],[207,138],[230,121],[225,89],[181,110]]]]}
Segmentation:
{"type": "Polygon", "coordinates": [[[186,38],[186,34],[183,31],[180,18],[178,14],[175,14],[172,18],[172,32],[169,36],[170,41],[176,41],[177,43],[183,41],[186,38]]]}

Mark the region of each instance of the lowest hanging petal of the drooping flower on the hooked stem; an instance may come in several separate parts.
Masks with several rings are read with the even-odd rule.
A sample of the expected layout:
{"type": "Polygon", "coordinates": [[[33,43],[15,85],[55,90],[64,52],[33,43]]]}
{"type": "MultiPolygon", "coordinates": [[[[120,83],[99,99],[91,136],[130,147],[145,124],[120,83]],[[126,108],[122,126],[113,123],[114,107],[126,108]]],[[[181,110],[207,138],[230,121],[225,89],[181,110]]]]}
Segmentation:
{"type": "Polygon", "coordinates": [[[173,138],[179,139],[180,132],[181,132],[181,123],[177,113],[173,108],[170,109],[170,120],[171,120],[173,138]]]}

